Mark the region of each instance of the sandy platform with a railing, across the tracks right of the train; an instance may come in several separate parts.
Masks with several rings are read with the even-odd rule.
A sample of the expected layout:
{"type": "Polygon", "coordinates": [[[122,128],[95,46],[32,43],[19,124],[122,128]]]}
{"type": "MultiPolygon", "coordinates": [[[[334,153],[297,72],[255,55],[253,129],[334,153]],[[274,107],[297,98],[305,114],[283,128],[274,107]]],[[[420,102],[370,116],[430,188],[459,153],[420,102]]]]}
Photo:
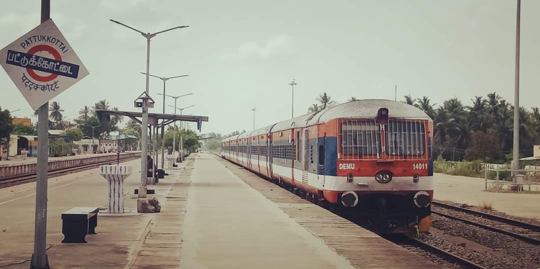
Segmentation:
{"type": "Polygon", "coordinates": [[[508,215],[534,218],[540,221],[540,194],[518,192],[487,192],[484,179],[470,176],[434,174],[436,200],[479,206],[490,203],[494,210],[508,215]]]}

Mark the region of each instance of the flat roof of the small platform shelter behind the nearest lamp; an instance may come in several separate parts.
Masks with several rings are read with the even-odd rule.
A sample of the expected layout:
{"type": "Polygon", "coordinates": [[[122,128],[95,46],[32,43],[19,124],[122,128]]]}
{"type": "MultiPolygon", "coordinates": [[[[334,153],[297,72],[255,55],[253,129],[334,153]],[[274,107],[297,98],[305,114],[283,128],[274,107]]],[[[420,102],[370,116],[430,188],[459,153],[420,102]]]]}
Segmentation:
{"type": "MultiPolygon", "coordinates": [[[[134,121],[142,124],[141,119],[143,117],[142,112],[130,112],[130,111],[118,111],[118,110],[107,110],[107,109],[96,109],[96,114],[100,120],[108,121],[111,115],[126,116],[134,121]]],[[[196,122],[197,130],[201,130],[203,122],[208,122],[207,116],[193,116],[193,115],[173,115],[173,114],[159,114],[159,113],[149,113],[148,114],[148,125],[154,126],[154,128],[161,128],[161,126],[169,125],[173,122],[196,122]],[[160,121],[163,120],[163,121],[160,121]]]]}

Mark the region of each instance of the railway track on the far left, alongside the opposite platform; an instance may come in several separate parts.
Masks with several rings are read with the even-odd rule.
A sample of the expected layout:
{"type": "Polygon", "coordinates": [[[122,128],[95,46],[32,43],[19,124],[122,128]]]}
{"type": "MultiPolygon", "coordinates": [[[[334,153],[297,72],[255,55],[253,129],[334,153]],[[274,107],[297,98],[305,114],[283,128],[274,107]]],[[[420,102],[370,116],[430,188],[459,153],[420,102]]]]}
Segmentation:
{"type": "MultiPolygon", "coordinates": [[[[126,162],[131,160],[140,159],[140,156],[136,157],[125,157],[120,158],[120,162],[126,162]]],[[[107,161],[98,161],[98,162],[92,162],[91,164],[83,164],[83,165],[76,165],[71,167],[64,167],[64,168],[57,168],[57,169],[51,169],[49,170],[48,177],[54,178],[55,176],[60,176],[64,174],[69,174],[72,172],[80,172],[89,170],[92,168],[96,168],[100,165],[107,165],[107,164],[114,164],[118,160],[107,160],[107,161]]],[[[31,174],[25,174],[25,175],[16,175],[16,176],[8,176],[5,178],[0,179],[0,188],[15,186],[23,183],[33,182],[37,179],[37,173],[31,173],[31,174]]]]}

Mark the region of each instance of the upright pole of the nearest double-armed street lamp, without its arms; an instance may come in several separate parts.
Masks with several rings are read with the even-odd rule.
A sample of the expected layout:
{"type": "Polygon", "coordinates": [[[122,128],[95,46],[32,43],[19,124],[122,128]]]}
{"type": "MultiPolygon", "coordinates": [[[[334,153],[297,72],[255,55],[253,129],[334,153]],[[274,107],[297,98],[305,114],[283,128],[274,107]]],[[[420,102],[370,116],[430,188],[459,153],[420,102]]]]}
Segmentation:
{"type": "MultiPolygon", "coordinates": [[[[150,33],[146,36],[146,95],[149,95],[149,81],[150,81],[150,33]]],[[[148,100],[143,100],[143,123],[141,124],[141,155],[140,155],[140,187],[139,198],[146,197],[146,156],[148,155],[148,100]]]]}

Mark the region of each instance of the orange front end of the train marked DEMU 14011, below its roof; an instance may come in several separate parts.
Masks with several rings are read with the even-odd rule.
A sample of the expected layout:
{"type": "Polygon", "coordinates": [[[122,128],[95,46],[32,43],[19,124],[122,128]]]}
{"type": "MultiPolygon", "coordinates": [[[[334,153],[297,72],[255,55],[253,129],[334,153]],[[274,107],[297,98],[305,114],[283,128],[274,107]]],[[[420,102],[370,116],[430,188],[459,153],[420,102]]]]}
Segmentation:
{"type": "Polygon", "coordinates": [[[400,227],[411,225],[428,231],[433,200],[431,121],[339,118],[325,125],[320,130],[327,129],[326,135],[328,129],[337,130],[335,154],[325,139],[326,167],[320,171],[325,174],[325,199],[353,210],[368,222],[365,225],[388,228],[381,232],[401,232],[400,227]],[[329,162],[335,168],[328,167],[329,162]]]}

